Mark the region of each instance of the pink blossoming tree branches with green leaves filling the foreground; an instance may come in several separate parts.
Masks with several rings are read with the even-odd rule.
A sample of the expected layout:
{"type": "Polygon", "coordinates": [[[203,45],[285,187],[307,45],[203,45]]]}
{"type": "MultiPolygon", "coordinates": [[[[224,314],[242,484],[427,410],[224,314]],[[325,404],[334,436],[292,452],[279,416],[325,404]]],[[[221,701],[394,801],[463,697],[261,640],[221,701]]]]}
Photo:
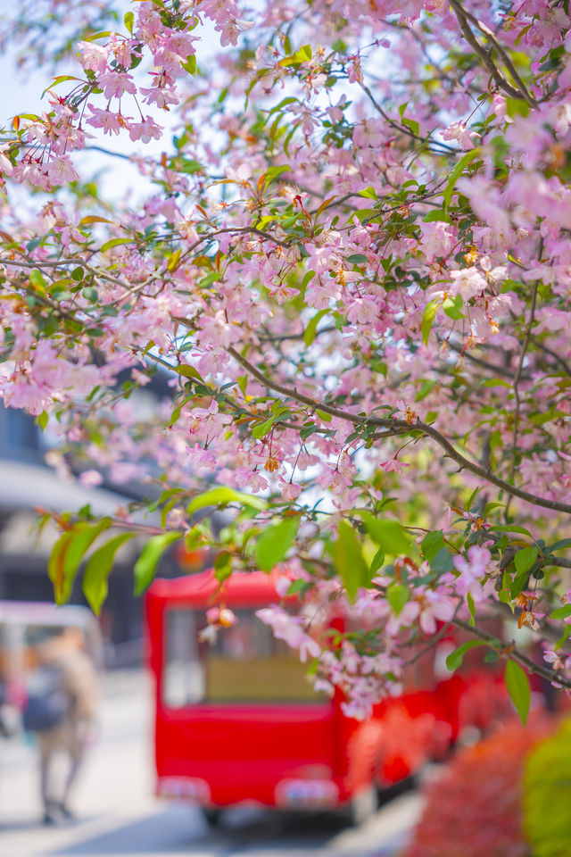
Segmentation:
{"type": "Polygon", "coordinates": [[[300,612],[261,620],[352,714],[447,628],[571,685],[563,5],[86,5],[42,51],[18,12],[63,73],[0,135],[4,404],[86,486],[145,485],[118,526],[210,545],[222,589],[285,562],[300,612]]]}

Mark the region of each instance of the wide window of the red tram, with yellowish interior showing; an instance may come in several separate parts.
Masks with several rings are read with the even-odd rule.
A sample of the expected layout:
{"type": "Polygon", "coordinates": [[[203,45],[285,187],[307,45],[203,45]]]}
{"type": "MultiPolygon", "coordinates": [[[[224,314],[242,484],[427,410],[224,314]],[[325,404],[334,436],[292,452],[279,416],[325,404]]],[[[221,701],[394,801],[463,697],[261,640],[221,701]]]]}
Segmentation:
{"type": "Polygon", "coordinates": [[[199,643],[202,612],[166,613],[163,700],[170,708],[193,703],[322,703],[288,645],[276,640],[253,610],[236,611],[236,625],[221,628],[213,643],[199,643]]]}

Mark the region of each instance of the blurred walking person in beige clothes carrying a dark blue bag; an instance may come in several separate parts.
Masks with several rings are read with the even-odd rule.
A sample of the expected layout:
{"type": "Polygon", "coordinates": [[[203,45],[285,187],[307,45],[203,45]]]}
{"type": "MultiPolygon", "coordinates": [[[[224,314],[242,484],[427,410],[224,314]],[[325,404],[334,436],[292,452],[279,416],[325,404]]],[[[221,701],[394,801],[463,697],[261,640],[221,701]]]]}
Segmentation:
{"type": "Polygon", "coordinates": [[[24,728],[37,736],[43,823],[49,825],[72,818],[70,793],[95,722],[97,682],[77,628],[66,628],[46,641],[38,656],[37,687],[32,682],[23,721],[24,728]],[[58,755],[68,762],[62,785],[54,778],[58,755]]]}

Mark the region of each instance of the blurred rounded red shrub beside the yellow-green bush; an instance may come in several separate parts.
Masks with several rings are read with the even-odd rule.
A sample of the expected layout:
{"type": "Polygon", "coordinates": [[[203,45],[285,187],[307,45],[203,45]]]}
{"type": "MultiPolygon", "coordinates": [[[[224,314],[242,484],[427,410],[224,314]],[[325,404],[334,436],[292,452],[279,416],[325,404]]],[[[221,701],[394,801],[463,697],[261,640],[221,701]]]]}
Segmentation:
{"type": "Polygon", "coordinates": [[[525,758],[549,731],[544,717],[526,728],[509,722],[460,750],[426,786],[426,808],[403,857],[525,857],[525,758]]]}

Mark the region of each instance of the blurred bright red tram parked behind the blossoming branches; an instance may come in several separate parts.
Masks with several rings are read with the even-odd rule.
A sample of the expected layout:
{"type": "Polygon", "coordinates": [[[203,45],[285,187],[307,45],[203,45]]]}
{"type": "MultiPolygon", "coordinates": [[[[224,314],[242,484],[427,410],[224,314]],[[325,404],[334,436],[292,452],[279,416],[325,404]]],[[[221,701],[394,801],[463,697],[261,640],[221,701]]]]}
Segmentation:
{"type": "Polygon", "coordinates": [[[485,728],[495,715],[498,678],[477,665],[461,675],[443,670],[458,645],[449,640],[407,670],[403,695],[377,705],[370,720],[348,718],[342,695],[316,694],[296,653],[256,618],[279,600],[271,576],[229,578],[224,604],[238,622],[212,644],[199,641],[218,587],[203,571],[157,580],[146,597],[157,793],[198,803],[211,820],[244,802],[361,820],[377,788],[414,774],[461,728],[485,728]]]}

